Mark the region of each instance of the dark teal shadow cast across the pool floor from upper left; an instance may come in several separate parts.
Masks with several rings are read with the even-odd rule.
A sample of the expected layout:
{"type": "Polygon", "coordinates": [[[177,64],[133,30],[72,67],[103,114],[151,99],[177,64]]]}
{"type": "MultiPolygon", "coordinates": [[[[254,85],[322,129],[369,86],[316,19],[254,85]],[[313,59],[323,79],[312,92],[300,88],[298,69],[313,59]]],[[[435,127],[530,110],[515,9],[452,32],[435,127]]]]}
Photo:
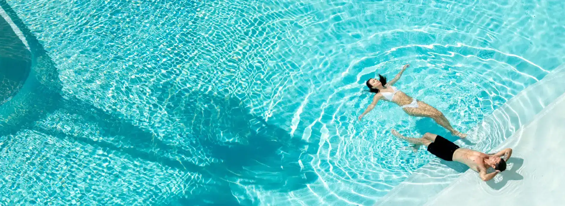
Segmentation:
{"type": "MultiPolygon", "coordinates": [[[[286,130],[270,125],[259,117],[250,115],[249,109],[238,106],[241,105],[241,100],[239,99],[217,98],[214,95],[203,93],[194,93],[193,97],[205,98],[215,102],[220,108],[223,108],[221,109],[223,113],[220,113],[219,119],[207,119],[206,116],[200,116],[200,119],[197,121],[215,122],[216,125],[223,126],[228,132],[231,131],[230,133],[244,134],[242,137],[246,138],[246,143],[221,143],[217,139],[210,138],[210,134],[207,134],[210,131],[193,126],[194,134],[191,135],[198,139],[203,148],[211,151],[212,157],[223,160],[223,163],[202,167],[194,164],[191,165],[188,162],[179,163],[179,161],[168,159],[163,157],[163,155],[147,152],[157,147],[162,151],[185,153],[182,148],[159,141],[158,139],[155,141],[153,133],[133,125],[128,120],[102,111],[102,109],[96,108],[82,100],[62,98],[62,86],[53,60],[50,59],[42,45],[15,15],[15,12],[11,10],[9,5],[3,0],[0,1],[0,5],[10,15],[12,21],[18,25],[28,41],[32,53],[36,56],[36,64],[33,69],[37,73],[37,82],[34,82],[32,90],[25,94],[27,95],[27,101],[21,105],[15,105],[13,109],[15,112],[5,116],[8,117],[6,118],[7,121],[1,122],[0,130],[3,135],[15,134],[21,129],[35,129],[66,139],[67,141],[78,141],[108,148],[119,153],[131,155],[134,158],[154,161],[172,168],[189,172],[200,172],[205,176],[214,176],[221,179],[244,179],[243,183],[261,186],[266,190],[292,191],[306,187],[307,183],[316,180],[317,176],[312,174],[311,169],[302,169],[297,163],[302,154],[299,148],[305,145],[305,142],[292,139],[286,130]],[[36,121],[40,121],[60,109],[92,120],[93,123],[100,126],[103,135],[120,136],[123,138],[123,141],[131,142],[136,147],[122,148],[108,142],[93,141],[88,137],[75,137],[61,131],[47,130],[34,126],[36,121]],[[229,117],[229,121],[224,121],[227,117],[229,117]],[[241,125],[240,123],[242,122],[245,124],[241,125]],[[254,122],[254,124],[250,125],[250,122],[254,122]],[[152,141],[151,144],[148,144],[149,139],[152,141]],[[189,166],[187,167],[187,165],[189,166]],[[254,168],[253,172],[246,169],[249,166],[254,168]],[[260,173],[264,175],[262,177],[258,176],[260,173]]],[[[189,109],[185,111],[189,112],[185,113],[185,115],[190,115],[189,109]]],[[[192,120],[185,119],[185,121],[187,124],[194,124],[192,120]]],[[[220,186],[214,190],[216,192],[210,194],[211,200],[220,201],[220,204],[234,202],[230,198],[233,198],[233,195],[231,192],[228,192],[231,189],[227,185],[220,186]],[[223,198],[219,198],[219,196],[223,196],[223,198]]],[[[189,193],[187,192],[187,194],[189,193]]],[[[181,197],[179,200],[186,198],[189,197],[181,197]]]]}

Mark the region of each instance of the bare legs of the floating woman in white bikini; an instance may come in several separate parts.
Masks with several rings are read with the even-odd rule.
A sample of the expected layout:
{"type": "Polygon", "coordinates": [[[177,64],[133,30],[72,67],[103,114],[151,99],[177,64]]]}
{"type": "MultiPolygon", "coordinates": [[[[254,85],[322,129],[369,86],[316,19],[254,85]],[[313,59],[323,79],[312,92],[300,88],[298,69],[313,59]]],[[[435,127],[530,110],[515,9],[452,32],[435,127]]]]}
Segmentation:
{"type": "Polygon", "coordinates": [[[426,104],[424,102],[418,102],[418,108],[405,107],[404,111],[411,116],[430,117],[434,121],[436,121],[438,125],[444,127],[449,132],[451,132],[451,135],[455,135],[460,138],[467,137],[467,134],[460,133],[459,131],[453,129],[453,126],[451,126],[449,120],[447,120],[444,114],[438,111],[436,108],[433,108],[429,104],[426,104]]]}

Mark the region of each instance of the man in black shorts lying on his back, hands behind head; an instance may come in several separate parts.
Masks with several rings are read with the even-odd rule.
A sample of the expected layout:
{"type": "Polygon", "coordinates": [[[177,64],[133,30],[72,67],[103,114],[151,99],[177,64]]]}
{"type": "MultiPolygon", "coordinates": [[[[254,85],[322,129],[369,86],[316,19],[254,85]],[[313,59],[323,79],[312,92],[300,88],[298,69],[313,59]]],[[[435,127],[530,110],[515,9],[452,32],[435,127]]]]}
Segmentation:
{"type": "Polygon", "coordinates": [[[499,172],[506,170],[506,161],[512,155],[512,149],[506,148],[497,152],[494,155],[487,155],[483,152],[470,150],[468,148],[460,148],[457,144],[441,137],[437,134],[425,133],[421,138],[409,138],[399,134],[396,130],[392,130],[392,134],[400,139],[403,139],[411,144],[414,151],[422,145],[428,147],[428,151],[446,161],[458,161],[459,163],[466,164],[472,170],[479,172],[483,181],[489,181],[494,178],[499,172]],[[502,159],[501,156],[505,156],[502,159]],[[486,169],[492,167],[495,169],[492,173],[486,173],[486,169]]]}

